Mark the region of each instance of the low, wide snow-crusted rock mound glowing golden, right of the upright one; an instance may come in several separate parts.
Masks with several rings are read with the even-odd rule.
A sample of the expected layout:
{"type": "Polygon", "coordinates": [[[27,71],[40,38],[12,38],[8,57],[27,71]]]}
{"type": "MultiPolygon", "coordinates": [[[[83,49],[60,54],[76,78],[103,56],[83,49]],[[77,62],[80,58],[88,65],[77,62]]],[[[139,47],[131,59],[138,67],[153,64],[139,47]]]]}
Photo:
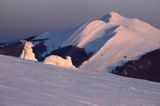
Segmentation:
{"type": "Polygon", "coordinates": [[[72,64],[71,57],[69,57],[69,56],[67,56],[66,59],[63,59],[60,56],[51,55],[51,56],[46,57],[46,59],[44,60],[43,63],[57,65],[60,67],[75,68],[72,64]]]}

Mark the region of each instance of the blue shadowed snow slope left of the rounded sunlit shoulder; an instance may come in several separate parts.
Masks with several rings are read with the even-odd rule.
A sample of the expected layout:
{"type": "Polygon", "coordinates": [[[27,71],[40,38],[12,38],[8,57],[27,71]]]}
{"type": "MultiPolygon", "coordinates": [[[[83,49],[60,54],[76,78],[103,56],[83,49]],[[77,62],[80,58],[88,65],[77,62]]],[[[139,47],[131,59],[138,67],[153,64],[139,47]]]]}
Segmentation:
{"type": "Polygon", "coordinates": [[[45,57],[47,54],[50,54],[53,50],[58,49],[62,46],[63,42],[68,39],[72,33],[77,30],[77,27],[73,27],[69,30],[66,30],[61,33],[49,33],[44,32],[40,35],[37,35],[32,39],[34,46],[43,43],[46,48],[45,52],[40,54],[41,57],[45,57]],[[35,41],[35,42],[34,42],[35,41]]]}

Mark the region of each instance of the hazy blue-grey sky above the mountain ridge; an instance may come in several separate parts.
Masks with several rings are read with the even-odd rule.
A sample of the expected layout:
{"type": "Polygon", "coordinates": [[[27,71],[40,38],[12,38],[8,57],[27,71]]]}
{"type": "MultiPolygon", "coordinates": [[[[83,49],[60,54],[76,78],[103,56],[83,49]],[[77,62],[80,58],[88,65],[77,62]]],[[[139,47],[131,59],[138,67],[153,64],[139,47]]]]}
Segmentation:
{"type": "Polygon", "coordinates": [[[0,0],[0,42],[63,31],[111,11],[160,28],[160,0],[0,0]]]}

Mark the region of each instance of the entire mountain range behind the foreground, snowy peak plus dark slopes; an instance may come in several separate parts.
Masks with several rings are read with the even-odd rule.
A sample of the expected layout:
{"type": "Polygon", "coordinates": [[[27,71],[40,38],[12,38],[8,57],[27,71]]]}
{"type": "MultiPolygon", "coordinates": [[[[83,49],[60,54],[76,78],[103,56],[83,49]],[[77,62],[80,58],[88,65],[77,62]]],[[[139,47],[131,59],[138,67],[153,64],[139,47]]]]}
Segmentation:
{"type": "Polygon", "coordinates": [[[62,33],[0,44],[0,54],[42,62],[51,55],[70,56],[77,68],[153,81],[160,81],[159,51],[159,29],[115,12],[62,33]]]}

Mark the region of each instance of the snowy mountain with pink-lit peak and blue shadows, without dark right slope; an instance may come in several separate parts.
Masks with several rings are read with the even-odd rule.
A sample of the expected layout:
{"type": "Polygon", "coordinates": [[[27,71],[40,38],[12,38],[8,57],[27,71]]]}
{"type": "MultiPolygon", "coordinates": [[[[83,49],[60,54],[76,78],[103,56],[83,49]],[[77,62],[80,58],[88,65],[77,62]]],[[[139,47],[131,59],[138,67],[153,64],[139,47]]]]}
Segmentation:
{"type": "Polygon", "coordinates": [[[99,20],[87,22],[62,33],[45,32],[34,36],[30,42],[34,45],[33,52],[38,60],[57,55],[53,54],[55,50],[73,46],[66,55],[73,61],[77,61],[76,56],[79,56],[74,54],[75,47],[84,49],[86,55],[93,54],[91,58],[88,56],[82,61],[80,68],[110,72],[117,65],[159,49],[160,30],[141,20],[111,12],[99,20]]]}

